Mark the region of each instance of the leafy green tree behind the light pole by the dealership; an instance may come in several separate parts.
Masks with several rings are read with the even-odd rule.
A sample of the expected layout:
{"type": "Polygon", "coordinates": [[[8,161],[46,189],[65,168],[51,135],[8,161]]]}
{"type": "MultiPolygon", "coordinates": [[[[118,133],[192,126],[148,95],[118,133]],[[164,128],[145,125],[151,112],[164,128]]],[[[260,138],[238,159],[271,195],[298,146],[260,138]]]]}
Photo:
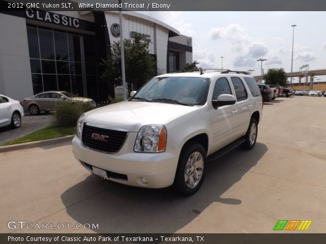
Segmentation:
{"type": "MultiPolygon", "coordinates": [[[[124,39],[124,58],[126,83],[129,90],[131,84],[137,89],[156,75],[156,60],[148,51],[150,40],[137,34],[134,39],[124,39]]],[[[120,42],[111,46],[111,57],[102,59],[103,73],[101,78],[115,85],[122,85],[120,42]]]]}

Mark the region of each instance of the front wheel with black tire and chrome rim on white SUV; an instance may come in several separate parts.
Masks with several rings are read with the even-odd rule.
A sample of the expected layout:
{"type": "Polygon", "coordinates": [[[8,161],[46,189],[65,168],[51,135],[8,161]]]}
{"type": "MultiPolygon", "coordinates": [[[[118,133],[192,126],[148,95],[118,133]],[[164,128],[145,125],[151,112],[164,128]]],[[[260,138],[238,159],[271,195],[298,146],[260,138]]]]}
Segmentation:
{"type": "Polygon", "coordinates": [[[206,168],[207,168],[207,158],[206,158],[205,148],[197,142],[188,143],[182,149],[180,154],[177,172],[175,174],[175,179],[173,184],[174,189],[179,194],[184,196],[193,195],[198,191],[198,189],[201,187],[203,183],[206,168]],[[191,160],[191,157],[194,159],[194,161],[191,160]],[[195,166],[196,160],[200,166],[198,168],[196,168],[195,166]],[[198,175],[196,176],[196,174],[198,175]],[[185,179],[186,175],[188,175],[187,179],[185,179]]]}

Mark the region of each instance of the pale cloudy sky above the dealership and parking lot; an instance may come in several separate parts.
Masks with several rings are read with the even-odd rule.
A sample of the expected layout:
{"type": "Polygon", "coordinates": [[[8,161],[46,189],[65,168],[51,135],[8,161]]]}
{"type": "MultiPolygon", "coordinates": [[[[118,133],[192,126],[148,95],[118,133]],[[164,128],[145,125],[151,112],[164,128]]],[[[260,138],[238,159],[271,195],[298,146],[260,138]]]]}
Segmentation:
{"type": "MultiPolygon", "coordinates": [[[[202,68],[293,71],[326,69],[325,12],[142,12],[193,38],[193,60],[202,68]]],[[[320,76],[326,81],[326,76],[320,76]]],[[[296,78],[294,78],[297,81],[296,78]]],[[[294,82],[295,82],[294,81],[294,82]]]]}

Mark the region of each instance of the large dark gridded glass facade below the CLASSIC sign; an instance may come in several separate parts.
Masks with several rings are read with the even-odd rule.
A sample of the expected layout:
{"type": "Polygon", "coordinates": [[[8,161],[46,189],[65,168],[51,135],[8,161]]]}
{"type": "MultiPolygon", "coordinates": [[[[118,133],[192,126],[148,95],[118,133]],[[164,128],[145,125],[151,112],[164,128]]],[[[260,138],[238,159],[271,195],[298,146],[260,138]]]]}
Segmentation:
{"type": "Polygon", "coordinates": [[[98,101],[93,36],[36,25],[28,25],[27,34],[34,95],[63,90],[98,101]]]}

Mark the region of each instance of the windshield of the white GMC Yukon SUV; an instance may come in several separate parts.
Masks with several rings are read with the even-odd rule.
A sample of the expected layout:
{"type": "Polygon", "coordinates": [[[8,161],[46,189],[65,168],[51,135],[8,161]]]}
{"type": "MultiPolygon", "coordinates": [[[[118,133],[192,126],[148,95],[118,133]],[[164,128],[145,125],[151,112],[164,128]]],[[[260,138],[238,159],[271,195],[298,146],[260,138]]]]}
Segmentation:
{"type": "Polygon", "coordinates": [[[148,81],[132,99],[203,105],[206,102],[208,84],[209,78],[204,77],[156,77],[148,81]]]}

